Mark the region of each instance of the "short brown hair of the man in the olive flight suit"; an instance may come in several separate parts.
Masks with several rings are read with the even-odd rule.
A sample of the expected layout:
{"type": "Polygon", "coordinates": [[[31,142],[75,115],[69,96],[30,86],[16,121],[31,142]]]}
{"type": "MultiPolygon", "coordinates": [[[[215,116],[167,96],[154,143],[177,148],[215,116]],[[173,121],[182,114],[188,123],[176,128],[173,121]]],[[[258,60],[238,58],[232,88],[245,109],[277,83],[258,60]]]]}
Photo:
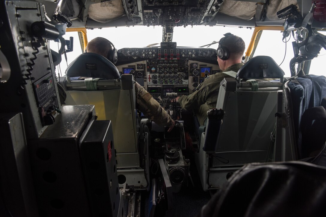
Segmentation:
{"type": "MultiPolygon", "coordinates": [[[[226,47],[229,51],[229,58],[238,59],[244,54],[244,40],[236,35],[225,36],[221,46],[226,47]]],[[[221,40],[220,40],[221,41],[221,40]]]]}

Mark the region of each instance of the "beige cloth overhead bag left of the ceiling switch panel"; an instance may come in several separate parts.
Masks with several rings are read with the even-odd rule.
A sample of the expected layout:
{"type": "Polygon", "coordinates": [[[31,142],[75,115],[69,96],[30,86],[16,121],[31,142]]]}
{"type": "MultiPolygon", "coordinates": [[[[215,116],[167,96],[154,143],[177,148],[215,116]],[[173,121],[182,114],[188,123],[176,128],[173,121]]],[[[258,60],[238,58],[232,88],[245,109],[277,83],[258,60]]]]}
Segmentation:
{"type": "Polygon", "coordinates": [[[92,4],[88,9],[88,17],[101,23],[107,23],[126,15],[121,0],[102,0],[92,4]]]}

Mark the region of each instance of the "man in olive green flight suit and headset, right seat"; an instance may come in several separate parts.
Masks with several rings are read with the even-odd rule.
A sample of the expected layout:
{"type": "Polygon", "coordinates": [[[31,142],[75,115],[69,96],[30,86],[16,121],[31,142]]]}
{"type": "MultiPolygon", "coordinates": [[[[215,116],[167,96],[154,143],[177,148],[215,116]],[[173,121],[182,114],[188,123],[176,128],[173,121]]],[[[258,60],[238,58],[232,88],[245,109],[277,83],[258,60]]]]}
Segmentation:
{"type": "Polygon", "coordinates": [[[245,44],[242,38],[227,33],[221,38],[217,48],[217,62],[222,73],[205,78],[196,91],[188,96],[176,97],[181,107],[194,110],[200,125],[204,125],[207,111],[215,109],[220,83],[224,78],[235,77],[243,66],[241,62],[245,44]]]}

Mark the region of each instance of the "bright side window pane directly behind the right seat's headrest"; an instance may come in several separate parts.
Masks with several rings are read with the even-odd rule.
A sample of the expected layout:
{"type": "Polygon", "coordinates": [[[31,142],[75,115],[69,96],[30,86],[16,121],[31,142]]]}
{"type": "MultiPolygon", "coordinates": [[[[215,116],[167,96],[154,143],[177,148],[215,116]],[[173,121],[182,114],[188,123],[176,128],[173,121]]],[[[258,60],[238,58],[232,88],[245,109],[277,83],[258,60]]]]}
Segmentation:
{"type": "Polygon", "coordinates": [[[285,77],[290,77],[289,63],[294,57],[292,41],[295,41],[295,39],[292,34],[290,34],[286,39],[284,39],[284,41],[287,41],[285,43],[282,41],[282,34],[283,33],[280,31],[263,30],[254,56],[263,55],[272,57],[278,65],[282,63],[280,67],[284,71],[285,77]]]}

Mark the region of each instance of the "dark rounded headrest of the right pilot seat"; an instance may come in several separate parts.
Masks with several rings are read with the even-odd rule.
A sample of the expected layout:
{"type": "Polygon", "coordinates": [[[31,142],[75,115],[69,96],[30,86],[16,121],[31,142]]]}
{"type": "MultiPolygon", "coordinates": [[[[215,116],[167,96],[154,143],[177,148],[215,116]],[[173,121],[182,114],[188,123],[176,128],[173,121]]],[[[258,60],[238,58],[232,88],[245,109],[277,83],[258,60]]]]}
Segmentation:
{"type": "Polygon", "coordinates": [[[238,71],[238,78],[283,78],[284,72],[269,56],[256,56],[247,61],[238,71]]]}

